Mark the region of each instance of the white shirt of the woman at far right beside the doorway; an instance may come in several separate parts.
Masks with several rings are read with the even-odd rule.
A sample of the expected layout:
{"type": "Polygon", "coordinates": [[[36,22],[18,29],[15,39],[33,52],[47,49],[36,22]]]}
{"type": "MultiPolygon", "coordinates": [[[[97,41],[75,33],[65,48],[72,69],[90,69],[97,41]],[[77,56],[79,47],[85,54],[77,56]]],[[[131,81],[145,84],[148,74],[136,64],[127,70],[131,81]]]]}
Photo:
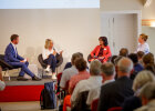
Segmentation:
{"type": "Polygon", "coordinates": [[[149,46],[145,42],[144,44],[138,43],[137,52],[143,51],[145,54],[149,53],[149,46]]]}

